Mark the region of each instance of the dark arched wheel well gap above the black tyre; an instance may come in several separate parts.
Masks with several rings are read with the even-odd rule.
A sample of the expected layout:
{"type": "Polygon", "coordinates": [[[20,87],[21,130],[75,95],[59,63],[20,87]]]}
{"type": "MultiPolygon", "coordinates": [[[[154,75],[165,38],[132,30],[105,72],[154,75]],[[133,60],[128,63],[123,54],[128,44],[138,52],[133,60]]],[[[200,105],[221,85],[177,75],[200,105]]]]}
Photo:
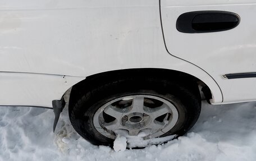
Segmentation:
{"type": "MultiPolygon", "coordinates": [[[[104,82],[106,80],[115,81],[117,77],[124,76],[145,76],[148,75],[154,77],[165,77],[167,79],[174,79],[177,81],[184,82],[190,89],[193,89],[196,93],[200,93],[199,86],[202,88],[203,94],[207,100],[212,98],[211,90],[203,81],[197,79],[196,77],[189,75],[188,73],[167,70],[160,68],[138,68],[138,69],[126,69],[126,70],[116,70],[116,71],[107,71],[102,73],[97,73],[86,77],[85,80],[80,81],[79,83],[72,86],[70,93],[70,99],[68,102],[69,107],[74,107],[74,104],[77,102],[77,99],[83,95],[83,91],[93,88],[94,84],[97,82],[104,82]]],[[[202,95],[202,94],[201,94],[202,95]]]]}

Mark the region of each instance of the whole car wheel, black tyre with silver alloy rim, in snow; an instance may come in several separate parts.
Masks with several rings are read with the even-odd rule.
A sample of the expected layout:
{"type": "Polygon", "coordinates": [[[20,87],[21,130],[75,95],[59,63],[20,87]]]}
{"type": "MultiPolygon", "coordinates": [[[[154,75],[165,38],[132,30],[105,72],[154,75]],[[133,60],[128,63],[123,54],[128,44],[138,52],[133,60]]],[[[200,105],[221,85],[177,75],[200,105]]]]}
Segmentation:
{"type": "Polygon", "coordinates": [[[181,80],[136,75],[92,81],[69,112],[75,130],[92,144],[113,146],[123,136],[127,148],[135,148],[184,135],[200,106],[198,89],[181,80]]]}

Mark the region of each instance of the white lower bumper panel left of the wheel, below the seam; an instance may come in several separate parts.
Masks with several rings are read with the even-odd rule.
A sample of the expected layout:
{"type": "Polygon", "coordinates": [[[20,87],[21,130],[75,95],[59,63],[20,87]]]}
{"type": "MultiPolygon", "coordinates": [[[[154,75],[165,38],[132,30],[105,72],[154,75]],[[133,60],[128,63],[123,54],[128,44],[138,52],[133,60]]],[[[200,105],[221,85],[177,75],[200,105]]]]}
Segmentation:
{"type": "Polygon", "coordinates": [[[85,77],[39,73],[0,72],[1,105],[25,105],[52,108],[52,100],[85,77]]]}

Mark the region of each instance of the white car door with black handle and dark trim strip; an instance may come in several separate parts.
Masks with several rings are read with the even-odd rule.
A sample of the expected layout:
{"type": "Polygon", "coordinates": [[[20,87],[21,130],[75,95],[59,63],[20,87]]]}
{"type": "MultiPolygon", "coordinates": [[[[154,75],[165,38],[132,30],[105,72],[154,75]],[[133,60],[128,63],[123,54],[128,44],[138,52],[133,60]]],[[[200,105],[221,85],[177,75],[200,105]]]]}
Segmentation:
{"type": "MultiPolygon", "coordinates": [[[[224,103],[256,99],[256,1],[161,0],[160,5],[164,39],[170,54],[194,63],[208,72],[220,85],[224,103]],[[230,30],[212,32],[205,29],[194,33],[178,31],[177,19],[184,13],[195,11],[202,11],[199,18],[202,18],[203,13],[213,11],[218,15],[225,11],[237,14],[240,20],[230,30]]],[[[198,21],[199,18],[194,17],[190,21],[198,21]]],[[[215,21],[211,16],[203,16],[203,19],[215,21]]],[[[187,23],[187,26],[181,23],[183,27],[191,27],[191,22],[188,21],[183,20],[187,23]]],[[[223,27],[221,25],[223,24],[215,24],[217,29],[223,27]]]]}

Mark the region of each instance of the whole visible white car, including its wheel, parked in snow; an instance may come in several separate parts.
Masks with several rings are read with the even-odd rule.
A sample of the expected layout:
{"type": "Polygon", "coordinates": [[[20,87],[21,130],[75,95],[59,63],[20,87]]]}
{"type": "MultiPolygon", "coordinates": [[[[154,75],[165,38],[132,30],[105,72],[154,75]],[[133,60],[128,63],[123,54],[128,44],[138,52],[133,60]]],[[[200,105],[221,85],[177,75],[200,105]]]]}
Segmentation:
{"type": "Polygon", "coordinates": [[[256,100],[254,0],[1,0],[0,10],[0,104],[53,108],[54,128],[66,107],[92,144],[157,144],[190,130],[202,98],[256,100]]]}

